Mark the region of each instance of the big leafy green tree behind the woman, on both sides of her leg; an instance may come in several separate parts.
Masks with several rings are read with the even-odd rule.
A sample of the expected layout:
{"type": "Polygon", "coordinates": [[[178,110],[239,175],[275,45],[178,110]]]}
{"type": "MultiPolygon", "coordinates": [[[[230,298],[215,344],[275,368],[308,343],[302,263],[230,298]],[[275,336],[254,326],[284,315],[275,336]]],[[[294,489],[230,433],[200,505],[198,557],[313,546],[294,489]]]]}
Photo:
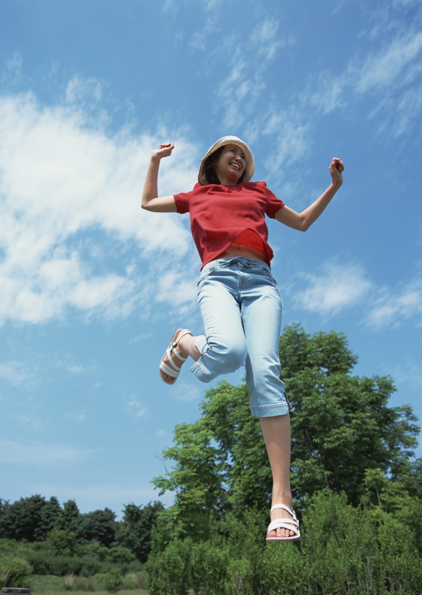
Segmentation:
{"type": "MultiPolygon", "coordinates": [[[[410,406],[389,407],[389,377],[357,377],[357,362],[342,333],[305,333],[286,327],[280,339],[281,377],[292,406],[292,486],[296,500],[323,488],[357,505],[366,493],[367,469],[420,491],[412,462],[419,428],[410,406]]],[[[272,479],[257,418],[250,415],[247,386],[222,382],[206,392],[201,417],[174,430],[163,458],[171,471],[156,477],[175,493],[165,512],[171,537],[206,538],[209,511],[267,508],[272,479]]]]}

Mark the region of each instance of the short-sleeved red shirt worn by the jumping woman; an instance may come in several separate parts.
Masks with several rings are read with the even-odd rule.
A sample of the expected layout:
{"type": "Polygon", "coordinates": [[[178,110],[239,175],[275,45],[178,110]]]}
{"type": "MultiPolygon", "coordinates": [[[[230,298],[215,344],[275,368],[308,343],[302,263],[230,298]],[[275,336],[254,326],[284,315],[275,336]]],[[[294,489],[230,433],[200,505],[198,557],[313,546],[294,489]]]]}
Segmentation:
{"type": "MultiPolygon", "coordinates": [[[[194,242],[202,267],[224,252],[242,234],[242,243],[264,250],[269,265],[273,251],[267,243],[264,215],[275,218],[284,202],[265,182],[234,186],[195,184],[191,192],[174,195],[178,213],[190,213],[194,242]]],[[[201,267],[201,268],[202,268],[201,267]]]]}

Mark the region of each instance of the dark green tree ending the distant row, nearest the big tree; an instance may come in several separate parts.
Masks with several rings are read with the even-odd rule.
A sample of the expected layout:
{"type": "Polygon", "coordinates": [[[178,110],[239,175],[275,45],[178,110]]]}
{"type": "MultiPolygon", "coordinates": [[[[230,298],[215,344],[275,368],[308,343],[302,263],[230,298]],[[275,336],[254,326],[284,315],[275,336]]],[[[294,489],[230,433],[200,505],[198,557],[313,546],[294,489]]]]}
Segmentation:
{"type": "Polygon", "coordinates": [[[146,506],[125,505],[116,542],[130,549],[140,562],[146,562],[151,550],[152,528],[158,513],[163,510],[161,502],[149,502],[146,506]]]}

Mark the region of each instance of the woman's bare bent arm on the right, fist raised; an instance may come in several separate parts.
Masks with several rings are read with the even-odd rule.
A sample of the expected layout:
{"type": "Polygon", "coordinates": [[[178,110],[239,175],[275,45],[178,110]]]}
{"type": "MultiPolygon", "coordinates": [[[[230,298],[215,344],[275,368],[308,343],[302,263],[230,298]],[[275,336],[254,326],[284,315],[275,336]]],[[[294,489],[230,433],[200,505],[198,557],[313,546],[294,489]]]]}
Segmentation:
{"type": "Polygon", "coordinates": [[[299,231],[306,231],[317,220],[320,214],[324,211],[327,204],[333,198],[339,187],[343,183],[344,164],[341,159],[333,158],[330,163],[330,174],[332,182],[322,195],[313,202],[307,209],[301,213],[297,213],[288,206],[282,206],[276,212],[275,218],[280,223],[284,223],[288,227],[297,229],[299,231]]]}

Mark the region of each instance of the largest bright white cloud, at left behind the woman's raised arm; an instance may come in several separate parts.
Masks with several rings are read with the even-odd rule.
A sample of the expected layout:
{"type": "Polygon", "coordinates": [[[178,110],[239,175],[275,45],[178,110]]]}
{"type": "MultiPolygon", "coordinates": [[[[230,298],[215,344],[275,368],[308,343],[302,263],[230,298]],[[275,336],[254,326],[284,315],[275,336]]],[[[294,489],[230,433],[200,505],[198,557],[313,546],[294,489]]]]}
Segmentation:
{"type": "MultiPolygon", "coordinates": [[[[81,87],[73,79],[75,101],[81,87]]],[[[162,194],[196,179],[197,148],[175,136],[174,155],[161,166],[162,194]]],[[[171,266],[190,246],[187,218],[140,208],[150,152],[166,138],[165,130],[110,136],[77,105],[0,96],[0,324],[43,322],[68,308],[126,316],[147,302],[148,280],[133,253],[137,265],[166,253],[171,266]],[[106,262],[107,249],[126,259],[125,270],[106,262]]]]}

